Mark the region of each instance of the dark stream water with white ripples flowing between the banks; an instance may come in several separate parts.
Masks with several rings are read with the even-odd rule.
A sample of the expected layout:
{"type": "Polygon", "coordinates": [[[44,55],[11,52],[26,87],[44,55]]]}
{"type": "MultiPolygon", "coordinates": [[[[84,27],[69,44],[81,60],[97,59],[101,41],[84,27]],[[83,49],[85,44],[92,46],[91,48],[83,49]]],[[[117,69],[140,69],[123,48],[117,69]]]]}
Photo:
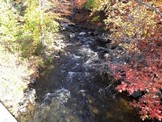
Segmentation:
{"type": "Polygon", "coordinates": [[[117,94],[113,81],[98,72],[103,61],[94,34],[85,30],[63,32],[64,51],[57,54],[35,86],[34,108],[20,122],[141,122],[128,100],[117,94]],[[70,34],[75,35],[69,38],[70,34]]]}

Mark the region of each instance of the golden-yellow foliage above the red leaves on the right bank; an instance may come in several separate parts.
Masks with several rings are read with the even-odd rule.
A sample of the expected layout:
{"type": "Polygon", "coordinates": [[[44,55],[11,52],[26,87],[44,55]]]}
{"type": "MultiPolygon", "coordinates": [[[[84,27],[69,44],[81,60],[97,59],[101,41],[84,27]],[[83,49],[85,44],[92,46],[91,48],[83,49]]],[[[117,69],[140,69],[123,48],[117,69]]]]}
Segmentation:
{"type": "MultiPolygon", "coordinates": [[[[144,39],[154,34],[156,23],[153,21],[155,13],[136,2],[114,2],[111,0],[96,0],[93,11],[105,11],[106,28],[110,30],[110,38],[115,43],[124,42],[134,44],[138,39],[144,39]],[[149,33],[148,33],[149,32],[149,33]]],[[[130,46],[130,45],[129,45],[130,46]]]]}

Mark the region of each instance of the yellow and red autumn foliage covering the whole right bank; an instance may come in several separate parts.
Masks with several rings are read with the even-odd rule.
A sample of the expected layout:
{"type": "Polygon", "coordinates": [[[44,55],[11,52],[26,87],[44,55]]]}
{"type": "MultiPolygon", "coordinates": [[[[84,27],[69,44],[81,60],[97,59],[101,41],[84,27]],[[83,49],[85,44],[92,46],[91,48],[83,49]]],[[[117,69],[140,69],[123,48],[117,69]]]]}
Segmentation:
{"type": "MultiPolygon", "coordinates": [[[[162,12],[161,1],[144,0],[162,12]]],[[[120,84],[118,92],[141,95],[131,105],[139,109],[142,120],[162,120],[162,19],[136,0],[94,0],[92,13],[104,11],[112,43],[129,53],[130,61],[109,67],[120,84]]]]}

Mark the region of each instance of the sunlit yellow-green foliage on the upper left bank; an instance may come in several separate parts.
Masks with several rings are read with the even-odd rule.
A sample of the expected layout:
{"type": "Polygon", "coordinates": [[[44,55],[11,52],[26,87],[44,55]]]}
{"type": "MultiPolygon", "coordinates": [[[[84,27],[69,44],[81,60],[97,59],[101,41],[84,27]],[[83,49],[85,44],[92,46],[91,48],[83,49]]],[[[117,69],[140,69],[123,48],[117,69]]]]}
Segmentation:
{"type": "Polygon", "coordinates": [[[58,30],[59,24],[55,21],[58,16],[46,12],[51,3],[45,1],[44,7],[39,2],[11,0],[0,5],[0,28],[5,30],[0,38],[9,51],[19,51],[25,57],[40,55],[44,44],[49,41],[48,34],[58,30]]]}

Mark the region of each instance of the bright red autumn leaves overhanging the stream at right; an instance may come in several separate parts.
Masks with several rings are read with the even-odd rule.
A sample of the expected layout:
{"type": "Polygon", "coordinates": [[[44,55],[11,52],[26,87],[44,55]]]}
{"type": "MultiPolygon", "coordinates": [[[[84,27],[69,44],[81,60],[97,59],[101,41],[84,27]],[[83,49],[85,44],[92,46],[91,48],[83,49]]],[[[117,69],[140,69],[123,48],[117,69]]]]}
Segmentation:
{"type": "MultiPolygon", "coordinates": [[[[135,91],[143,92],[138,101],[131,103],[140,109],[141,118],[156,118],[162,120],[162,35],[155,37],[152,42],[140,41],[143,60],[133,60],[127,65],[111,65],[113,75],[121,84],[116,87],[118,92],[127,91],[132,95],[135,91]],[[145,52],[144,52],[145,50],[145,52]],[[116,69],[120,69],[115,72],[116,69]]],[[[132,55],[133,57],[133,55],[132,55]]]]}

